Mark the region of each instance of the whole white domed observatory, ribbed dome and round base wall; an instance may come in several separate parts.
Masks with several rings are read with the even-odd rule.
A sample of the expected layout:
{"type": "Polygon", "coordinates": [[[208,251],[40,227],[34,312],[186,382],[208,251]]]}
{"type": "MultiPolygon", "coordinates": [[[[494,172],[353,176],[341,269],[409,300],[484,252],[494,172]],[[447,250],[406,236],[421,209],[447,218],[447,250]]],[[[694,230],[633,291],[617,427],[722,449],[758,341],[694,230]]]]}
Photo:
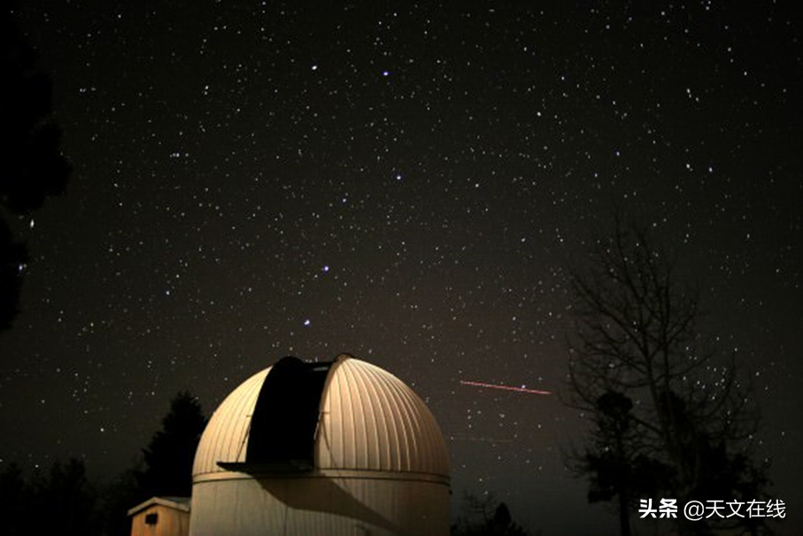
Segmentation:
{"type": "Polygon", "coordinates": [[[412,389],[366,361],[286,357],[243,382],[206,426],[190,536],[445,536],[449,463],[412,389]]]}

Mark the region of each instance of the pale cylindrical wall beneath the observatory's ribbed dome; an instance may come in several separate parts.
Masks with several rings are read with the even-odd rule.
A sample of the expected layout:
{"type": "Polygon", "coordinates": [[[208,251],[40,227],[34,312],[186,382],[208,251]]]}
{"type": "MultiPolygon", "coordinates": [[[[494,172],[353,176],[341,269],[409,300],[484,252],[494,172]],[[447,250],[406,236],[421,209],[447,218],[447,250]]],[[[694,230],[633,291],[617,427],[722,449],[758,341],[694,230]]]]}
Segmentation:
{"type": "Polygon", "coordinates": [[[445,480],[361,473],[197,481],[189,534],[449,534],[449,486],[445,480]]]}

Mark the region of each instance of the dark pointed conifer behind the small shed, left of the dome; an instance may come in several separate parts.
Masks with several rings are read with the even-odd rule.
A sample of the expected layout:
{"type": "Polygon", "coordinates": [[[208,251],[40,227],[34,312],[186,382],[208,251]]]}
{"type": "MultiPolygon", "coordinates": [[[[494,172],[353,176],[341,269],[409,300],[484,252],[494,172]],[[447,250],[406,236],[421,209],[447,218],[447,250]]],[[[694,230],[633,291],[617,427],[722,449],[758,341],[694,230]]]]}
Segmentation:
{"type": "Polygon", "coordinates": [[[162,429],[143,449],[145,468],[139,474],[143,499],[154,495],[189,497],[192,462],[206,419],[201,405],[189,392],[180,392],[162,420],[162,429]]]}

